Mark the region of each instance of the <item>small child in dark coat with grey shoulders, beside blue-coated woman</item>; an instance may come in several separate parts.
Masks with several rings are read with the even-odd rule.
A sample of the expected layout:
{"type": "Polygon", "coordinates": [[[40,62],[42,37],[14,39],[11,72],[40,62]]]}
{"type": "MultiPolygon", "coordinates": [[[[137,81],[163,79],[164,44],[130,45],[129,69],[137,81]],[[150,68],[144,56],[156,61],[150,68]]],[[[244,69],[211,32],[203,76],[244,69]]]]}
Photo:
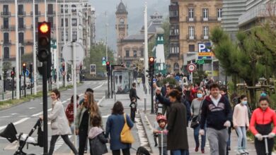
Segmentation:
{"type": "Polygon", "coordinates": [[[90,149],[93,155],[102,155],[108,153],[108,139],[105,138],[103,129],[100,128],[101,118],[100,116],[94,116],[92,120],[93,128],[89,131],[88,138],[90,140],[90,149]]]}

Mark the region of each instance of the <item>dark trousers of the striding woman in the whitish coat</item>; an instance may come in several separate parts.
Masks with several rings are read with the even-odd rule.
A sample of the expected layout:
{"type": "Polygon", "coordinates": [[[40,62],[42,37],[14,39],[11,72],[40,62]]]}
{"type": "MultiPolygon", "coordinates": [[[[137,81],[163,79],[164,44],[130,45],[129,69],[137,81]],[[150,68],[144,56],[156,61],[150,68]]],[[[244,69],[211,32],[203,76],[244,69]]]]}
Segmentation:
{"type": "MultiPolygon", "coordinates": [[[[64,140],[65,144],[70,147],[70,149],[74,152],[74,154],[78,154],[78,151],[76,151],[76,148],[74,147],[74,144],[69,140],[68,135],[61,135],[62,139],[64,140]]],[[[54,153],[54,145],[57,142],[57,138],[59,135],[52,135],[51,142],[50,142],[50,150],[49,150],[49,155],[52,155],[54,153]]]]}

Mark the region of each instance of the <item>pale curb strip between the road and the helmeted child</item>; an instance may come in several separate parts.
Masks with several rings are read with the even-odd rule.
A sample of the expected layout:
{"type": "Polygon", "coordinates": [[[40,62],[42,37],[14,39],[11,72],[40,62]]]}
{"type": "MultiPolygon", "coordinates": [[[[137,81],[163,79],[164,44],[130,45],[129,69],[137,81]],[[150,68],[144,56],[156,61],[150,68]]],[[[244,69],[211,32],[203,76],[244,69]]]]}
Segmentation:
{"type": "Polygon", "coordinates": [[[144,120],[144,119],[147,119],[145,113],[143,111],[139,110],[139,115],[140,115],[140,118],[141,118],[141,121],[142,121],[143,128],[144,128],[145,133],[146,133],[146,139],[148,140],[149,147],[151,148],[151,154],[159,154],[159,151],[157,151],[156,147],[154,147],[154,140],[153,140],[153,135],[152,135],[152,132],[151,132],[151,130],[152,130],[151,123],[149,123],[149,120],[146,120],[149,123],[149,127],[147,127],[146,122],[144,120]]]}

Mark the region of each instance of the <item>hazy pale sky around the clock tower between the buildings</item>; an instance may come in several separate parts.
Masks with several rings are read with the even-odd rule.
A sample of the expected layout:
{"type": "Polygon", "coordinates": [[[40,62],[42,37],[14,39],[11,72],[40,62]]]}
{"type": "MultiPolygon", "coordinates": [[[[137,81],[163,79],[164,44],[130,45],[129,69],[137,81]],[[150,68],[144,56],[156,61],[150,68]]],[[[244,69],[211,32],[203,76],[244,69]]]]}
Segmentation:
{"type": "MultiPolygon", "coordinates": [[[[108,44],[116,49],[115,11],[120,0],[90,0],[96,8],[96,39],[105,39],[105,11],[108,14],[108,44]]],[[[144,25],[144,0],[122,0],[127,6],[129,35],[139,32],[144,25]]],[[[164,17],[168,16],[169,0],[148,0],[148,15],[158,11],[164,17]]]]}

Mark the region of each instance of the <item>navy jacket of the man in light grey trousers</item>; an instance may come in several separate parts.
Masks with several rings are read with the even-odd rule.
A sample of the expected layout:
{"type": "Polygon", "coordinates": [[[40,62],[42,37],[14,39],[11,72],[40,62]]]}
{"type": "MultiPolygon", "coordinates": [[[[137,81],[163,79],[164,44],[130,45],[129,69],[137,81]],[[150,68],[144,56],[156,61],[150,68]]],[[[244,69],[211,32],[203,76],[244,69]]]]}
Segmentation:
{"type": "Polygon", "coordinates": [[[206,120],[207,128],[214,128],[215,130],[225,129],[224,123],[226,120],[230,122],[232,120],[232,109],[228,99],[222,95],[219,103],[215,106],[210,96],[205,97],[200,117],[200,129],[205,128],[206,120]]]}

